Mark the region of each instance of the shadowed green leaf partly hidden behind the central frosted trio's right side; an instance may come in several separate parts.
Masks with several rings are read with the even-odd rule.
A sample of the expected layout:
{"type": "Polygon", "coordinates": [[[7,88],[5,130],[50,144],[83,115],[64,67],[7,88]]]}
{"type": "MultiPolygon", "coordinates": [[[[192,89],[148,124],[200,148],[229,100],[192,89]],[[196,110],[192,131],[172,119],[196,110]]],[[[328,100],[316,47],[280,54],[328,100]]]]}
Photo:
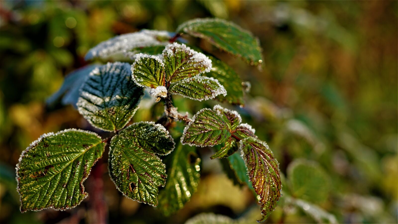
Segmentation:
{"type": "Polygon", "coordinates": [[[239,75],[220,59],[209,55],[208,57],[212,62],[211,71],[204,73],[203,76],[217,79],[228,93],[226,96],[219,95],[216,98],[220,100],[220,102],[244,105],[243,86],[239,75]]]}

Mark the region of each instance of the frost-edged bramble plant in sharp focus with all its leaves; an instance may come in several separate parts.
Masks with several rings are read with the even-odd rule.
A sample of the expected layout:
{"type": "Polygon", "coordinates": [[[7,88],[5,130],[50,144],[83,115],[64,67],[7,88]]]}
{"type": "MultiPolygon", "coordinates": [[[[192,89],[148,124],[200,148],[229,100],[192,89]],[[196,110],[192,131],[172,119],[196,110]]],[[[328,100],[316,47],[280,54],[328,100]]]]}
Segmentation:
{"type": "Polygon", "coordinates": [[[234,110],[216,105],[189,118],[174,107],[172,94],[244,104],[244,85],[234,70],[189,45],[185,35],[205,39],[250,65],[262,63],[258,40],[220,19],[195,19],[181,24],[175,33],[142,30],[98,44],[86,60],[117,62],[88,65],[68,75],[49,102],[62,98],[62,103],[73,104],[92,126],[111,137],[67,129],[31,143],[17,165],[21,212],[79,205],[88,196],[83,183],[109,145],[109,175],[116,188],[170,215],[197,189],[201,166],[197,147],[220,145],[211,159],[227,158],[235,180],[258,195],[263,215],[258,221],[267,219],[281,196],[279,165],[267,143],[249,124],[242,124],[234,110]],[[127,126],[144,88],[150,88],[156,102],[164,102],[165,112],[157,122],[127,126]],[[186,125],[179,140],[166,129],[173,122],[186,125]],[[163,155],[168,155],[165,162],[160,159],[163,155]]]}

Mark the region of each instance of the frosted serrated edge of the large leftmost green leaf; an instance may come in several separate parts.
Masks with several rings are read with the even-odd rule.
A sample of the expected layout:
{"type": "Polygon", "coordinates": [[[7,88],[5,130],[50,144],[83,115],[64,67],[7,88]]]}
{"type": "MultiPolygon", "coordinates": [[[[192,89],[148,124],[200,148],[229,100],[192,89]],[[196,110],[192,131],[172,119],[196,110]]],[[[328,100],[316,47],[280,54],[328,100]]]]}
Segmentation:
{"type": "MultiPolygon", "coordinates": [[[[30,145],[29,145],[25,150],[22,151],[21,156],[20,156],[20,158],[18,159],[18,163],[17,163],[16,168],[15,168],[15,169],[16,169],[17,191],[18,191],[18,194],[20,195],[20,203],[21,203],[21,205],[20,205],[20,211],[21,211],[21,213],[27,212],[28,210],[29,210],[29,211],[41,211],[41,210],[48,209],[48,208],[52,208],[52,209],[54,209],[54,210],[56,210],[56,211],[64,211],[64,210],[67,210],[67,209],[75,208],[76,206],[80,205],[80,203],[82,203],[82,201],[83,201],[84,199],[86,199],[86,198],[88,197],[88,193],[86,192],[86,193],[87,193],[86,196],[84,196],[84,198],[82,199],[82,201],[80,201],[79,204],[76,204],[75,206],[71,206],[71,207],[67,207],[67,208],[54,208],[54,206],[50,206],[50,207],[47,207],[47,208],[22,210],[22,198],[21,198],[21,193],[20,193],[20,181],[18,180],[20,177],[19,177],[19,175],[18,175],[18,171],[19,171],[19,169],[20,169],[20,163],[22,162],[22,157],[23,157],[23,155],[25,155],[25,153],[27,153],[30,149],[32,149],[33,147],[35,147],[43,138],[46,138],[46,137],[49,137],[49,136],[55,136],[55,135],[58,135],[58,134],[63,134],[63,133],[65,133],[65,132],[70,132],[70,131],[73,131],[73,132],[83,132],[83,133],[87,133],[87,134],[94,134],[94,135],[97,136],[98,138],[101,138],[101,137],[100,137],[97,133],[95,133],[95,132],[90,132],[90,131],[86,131],[86,130],[80,130],[80,129],[76,129],[76,128],[69,128],[69,129],[65,129],[65,130],[59,131],[59,132],[57,132],[57,133],[55,133],[55,134],[54,134],[54,132],[49,132],[49,133],[46,133],[46,134],[42,134],[37,140],[35,140],[35,141],[33,141],[32,143],[30,143],[30,145]]],[[[103,143],[103,142],[101,141],[100,143],[103,143]]],[[[100,144],[100,143],[98,143],[98,144],[100,144]]],[[[98,145],[98,144],[96,144],[96,145],[98,145]]],[[[94,147],[94,146],[96,146],[96,145],[92,145],[92,147],[94,147]]],[[[92,147],[90,147],[89,149],[91,149],[92,147]]],[[[87,150],[88,150],[88,149],[87,149],[87,150]]],[[[86,151],[87,151],[87,150],[86,150],[86,151]]],[[[97,163],[97,161],[98,161],[99,159],[101,159],[101,158],[102,158],[102,156],[99,157],[97,160],[95,160],[94,163],[93,163],[93,165],[92,165],[92,167],[94,167],[94,165],[97,163]]],[[[88,176],[90,176],[90,173],[91,173],[91,169],[88,171],[88,174],[87,174],[86,178],[82,179],[81,183],[83,183],[84,181],[86,181],[86,179],[88,178],[88,176]]],[[[82,184],[82,187],[83,187],[83,192],[84,192],[85,187],[84,187],[83,184],[82,184]]]]}

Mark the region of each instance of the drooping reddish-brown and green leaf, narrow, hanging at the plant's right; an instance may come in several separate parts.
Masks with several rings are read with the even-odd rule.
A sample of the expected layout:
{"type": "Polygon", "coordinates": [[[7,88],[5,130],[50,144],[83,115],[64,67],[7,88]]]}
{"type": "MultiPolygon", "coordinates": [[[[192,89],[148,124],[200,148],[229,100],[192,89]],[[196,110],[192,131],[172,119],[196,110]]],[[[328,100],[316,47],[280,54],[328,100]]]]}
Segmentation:
{"type": "Polygon", "coordinates": [[[259,202],[262,203],[261,213],[263,218],[258,222],[263,222],[275,209],[281,196],[282,185],[279,176],[279,164],[273,157],[267,143],[263,141],[250,137],[241,140],[239,145],[242,158],[248,168],[252,187],[259,195],[259,202]]]}

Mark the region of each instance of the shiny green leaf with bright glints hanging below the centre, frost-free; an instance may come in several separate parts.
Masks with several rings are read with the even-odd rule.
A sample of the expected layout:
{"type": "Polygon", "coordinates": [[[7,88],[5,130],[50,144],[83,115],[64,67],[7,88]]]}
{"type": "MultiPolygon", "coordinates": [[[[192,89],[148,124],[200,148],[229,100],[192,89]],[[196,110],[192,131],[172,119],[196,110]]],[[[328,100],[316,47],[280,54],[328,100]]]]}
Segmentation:
{"type": "Polygon", "coordinates": [[[196,192],[200,180],[201,159],[195,147],[179,144],[164,159],[167,167],[167,181],[159,193],[159,208],[169,216],[189,201],[196,192]]]}

